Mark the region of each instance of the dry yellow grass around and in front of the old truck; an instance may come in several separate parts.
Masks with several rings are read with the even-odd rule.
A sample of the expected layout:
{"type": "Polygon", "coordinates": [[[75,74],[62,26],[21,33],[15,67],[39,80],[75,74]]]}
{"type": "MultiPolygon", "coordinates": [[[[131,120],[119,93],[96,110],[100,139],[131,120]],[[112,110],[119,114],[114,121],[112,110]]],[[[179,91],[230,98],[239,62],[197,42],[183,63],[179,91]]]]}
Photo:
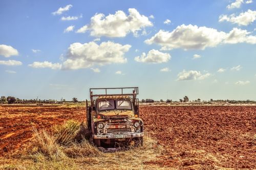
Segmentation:
{"type": "Polygon", "coordinates": [[[81,139],[83,130],[84,125],[73,120],[53,127],[52,133],[34,130],[35,138],[27,152],[18,159],[0,159],[0,169],[161,169],[146,163],[159,159],[164,152],[150,136],[144,137],[142,147],[102,153],[87,139],[81,139]]]}

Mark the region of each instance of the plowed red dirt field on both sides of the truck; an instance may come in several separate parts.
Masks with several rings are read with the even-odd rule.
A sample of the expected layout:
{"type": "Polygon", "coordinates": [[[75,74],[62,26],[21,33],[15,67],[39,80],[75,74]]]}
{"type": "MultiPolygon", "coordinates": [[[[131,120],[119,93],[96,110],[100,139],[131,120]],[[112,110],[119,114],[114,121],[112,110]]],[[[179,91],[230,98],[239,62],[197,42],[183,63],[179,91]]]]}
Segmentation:
{"type": "MultiPolygon", "coordinates": [[[[86,119],[84,107],[0,106],[0,154],[22,148],[33,127],[86,119]]],[[[141,106],[145,131],[166,152],[154,162],[174,168],[256,168],[256,106],[141,106]]]]}

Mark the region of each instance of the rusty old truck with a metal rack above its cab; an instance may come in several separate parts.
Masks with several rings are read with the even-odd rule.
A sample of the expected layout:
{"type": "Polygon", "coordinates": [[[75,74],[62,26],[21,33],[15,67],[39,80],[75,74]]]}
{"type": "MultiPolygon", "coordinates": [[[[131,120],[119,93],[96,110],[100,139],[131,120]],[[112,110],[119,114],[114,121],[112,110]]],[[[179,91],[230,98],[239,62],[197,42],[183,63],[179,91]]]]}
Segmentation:
{"type": "Polygon", "coordinates": [[[139,117],[138,87],[91,88],[87,101],[87,125],[90,140],[97,147],[120,148],[143,144],[143,121],[139,117]],[[109,94],[110,90],[120,90],[109,94]],[[104,93],[94,94],[97,90],[104,93]],[[131,91],[124,93],[123,91],[131,91]]]}

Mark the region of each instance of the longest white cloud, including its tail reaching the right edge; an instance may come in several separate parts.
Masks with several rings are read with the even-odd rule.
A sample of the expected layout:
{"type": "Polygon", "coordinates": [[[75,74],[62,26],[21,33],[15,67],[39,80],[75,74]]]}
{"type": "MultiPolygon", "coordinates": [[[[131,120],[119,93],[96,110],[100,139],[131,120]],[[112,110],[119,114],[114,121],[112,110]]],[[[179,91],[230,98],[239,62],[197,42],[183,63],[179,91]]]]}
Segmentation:
{"type": "Polygon", "coordinates": [[[246,42],[255,44],[256,36],[249,34],[246,30],[237,28],[225,33],[207,27],[181,25],[172,32],[160,30],[144,42],[147,44],[159,44],[162,46],[161,50],[172,50],[174,48],[204,50],[206,47],[215,47],[221,43],[246,42]]]}

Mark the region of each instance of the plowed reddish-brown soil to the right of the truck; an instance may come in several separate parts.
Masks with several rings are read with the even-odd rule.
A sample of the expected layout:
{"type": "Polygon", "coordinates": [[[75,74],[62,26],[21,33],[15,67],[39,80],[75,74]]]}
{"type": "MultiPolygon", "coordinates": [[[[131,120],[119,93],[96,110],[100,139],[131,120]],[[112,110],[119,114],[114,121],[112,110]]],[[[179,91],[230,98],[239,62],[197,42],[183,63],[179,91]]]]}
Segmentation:
{"type": "Polygon", "coordinates": [[[254,106],[145,106],[140,112],[145,130],[170,156],[160,164],[256,167],[254,106]]]}

